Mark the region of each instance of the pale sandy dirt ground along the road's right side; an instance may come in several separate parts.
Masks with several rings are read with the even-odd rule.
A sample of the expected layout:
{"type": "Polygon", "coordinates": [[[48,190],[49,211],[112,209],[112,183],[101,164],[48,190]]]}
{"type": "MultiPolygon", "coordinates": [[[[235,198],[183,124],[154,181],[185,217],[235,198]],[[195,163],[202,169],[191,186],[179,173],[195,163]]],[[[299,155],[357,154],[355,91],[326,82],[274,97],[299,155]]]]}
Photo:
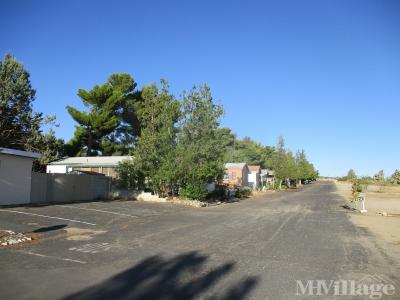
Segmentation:
{"type": "MultiPolygon", "coordinates": [[[[336,182],[336,187],[337,192],[353,207],[350,203],[351,184],[336,182]]],[[[364,194],[368,212],[351,214],[351,220],[400,251],[400,187],[372,185],[364,194]]]]}

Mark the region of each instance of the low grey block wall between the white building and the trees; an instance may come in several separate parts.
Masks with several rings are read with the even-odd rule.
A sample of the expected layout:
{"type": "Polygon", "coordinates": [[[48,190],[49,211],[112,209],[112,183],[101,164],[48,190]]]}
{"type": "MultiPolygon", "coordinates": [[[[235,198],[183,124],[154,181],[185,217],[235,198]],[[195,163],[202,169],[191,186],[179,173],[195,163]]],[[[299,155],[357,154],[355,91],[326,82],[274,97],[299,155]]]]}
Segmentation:
{"type": "Polygon", "coordinates": [[[32,174],[31,203],[68,203],[108,199],[111,178],[97,175],[32,174]]]}

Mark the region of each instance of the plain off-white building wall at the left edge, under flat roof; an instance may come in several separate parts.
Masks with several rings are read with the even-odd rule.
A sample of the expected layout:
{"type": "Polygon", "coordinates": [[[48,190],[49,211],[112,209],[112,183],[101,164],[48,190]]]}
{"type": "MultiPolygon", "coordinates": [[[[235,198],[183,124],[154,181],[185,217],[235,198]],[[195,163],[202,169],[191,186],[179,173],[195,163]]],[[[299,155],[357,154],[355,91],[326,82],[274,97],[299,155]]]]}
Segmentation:
{"type": "Polygon", "coordinates": [[[0,154],[0,205],[30,201],[32,158],[0,154]]]}

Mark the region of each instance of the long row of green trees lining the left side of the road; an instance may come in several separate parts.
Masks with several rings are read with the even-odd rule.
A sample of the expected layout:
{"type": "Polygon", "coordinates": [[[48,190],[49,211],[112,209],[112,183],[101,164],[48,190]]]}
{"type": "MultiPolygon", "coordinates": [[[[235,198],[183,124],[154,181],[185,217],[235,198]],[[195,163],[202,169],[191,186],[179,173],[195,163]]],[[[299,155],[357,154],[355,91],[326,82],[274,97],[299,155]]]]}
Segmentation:
{"type": "Polygon", "coordinates": [[[30,75],[12,55],[0,62],[0,80],[0,145],[41,152],[36,171],[64,156],[130,155],[118,168],[127,187],[193,199],[204,199],[206,184],[222,179],[225,162],[273,169],[279,187],[318,176],[305,152],[293,154],[283,137],[264,146],[221,128],[223,107],[205,84],[177,98],[165,80],[138,89],[130,74],[112,74],[91,90],[78,90],[85,110],[66,107],[77,125],[64,142],[55,136],[54,116],[33,112],[30,75]]]}

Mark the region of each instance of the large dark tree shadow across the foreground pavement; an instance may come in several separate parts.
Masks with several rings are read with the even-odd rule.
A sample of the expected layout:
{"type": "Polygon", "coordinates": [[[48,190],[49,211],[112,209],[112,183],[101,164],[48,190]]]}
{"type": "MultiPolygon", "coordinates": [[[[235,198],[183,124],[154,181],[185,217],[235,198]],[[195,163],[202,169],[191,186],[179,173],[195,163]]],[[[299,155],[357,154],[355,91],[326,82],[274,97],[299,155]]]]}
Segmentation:
{"type": "Polygon", "coordinates": [[[64,299],[194,299],[200,295],[215,299],[243,299],[258,282],[255,276],[246,277],[218,290],[218,293],[207,294],[208,289],[233,270],[234,263],[204,271],[206,260],[206,256],[197,252],[172,259],[151,256],[131,269],[64,299]]]}

